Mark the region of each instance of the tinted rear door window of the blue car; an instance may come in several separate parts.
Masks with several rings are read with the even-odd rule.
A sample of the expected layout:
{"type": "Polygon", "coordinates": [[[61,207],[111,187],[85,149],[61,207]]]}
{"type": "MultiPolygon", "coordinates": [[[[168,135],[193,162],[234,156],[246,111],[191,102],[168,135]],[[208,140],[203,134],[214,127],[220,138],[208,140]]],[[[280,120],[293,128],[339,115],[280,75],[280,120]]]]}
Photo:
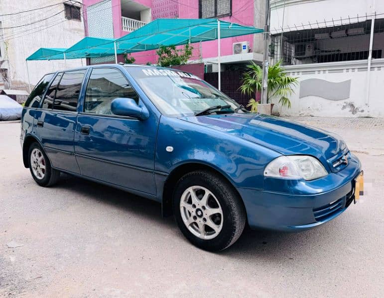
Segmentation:
{"type": "Polygon", "coordinates": [[[53,104],[53,109],[63,111],[76,111],[81,83],[87,71],[66,72],[63,74],[53,104]]]}

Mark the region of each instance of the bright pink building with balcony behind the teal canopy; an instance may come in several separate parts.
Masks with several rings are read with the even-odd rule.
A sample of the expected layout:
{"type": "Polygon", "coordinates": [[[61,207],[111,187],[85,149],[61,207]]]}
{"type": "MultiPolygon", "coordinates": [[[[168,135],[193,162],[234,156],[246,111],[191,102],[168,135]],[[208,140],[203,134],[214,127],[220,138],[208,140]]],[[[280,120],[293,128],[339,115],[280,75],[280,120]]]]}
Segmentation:
{"type": "MultiPolygon", "coordinates": [[[[263,1],[255,0],[83,0],[88,36],[119,38],[156,18],[215,18],[263,27],[263,1]]],[[[217,40],[193,44],[191,61],[217,72],[217,40]]],[[[134,53],[136,64],[156,63],[155,51],[134,53]]],[[[233,64],[262,61],[262,35],[222,39],[222,71],[233,64]]],[[[92,63],[113,58],[94,59],[92,63]]]]}

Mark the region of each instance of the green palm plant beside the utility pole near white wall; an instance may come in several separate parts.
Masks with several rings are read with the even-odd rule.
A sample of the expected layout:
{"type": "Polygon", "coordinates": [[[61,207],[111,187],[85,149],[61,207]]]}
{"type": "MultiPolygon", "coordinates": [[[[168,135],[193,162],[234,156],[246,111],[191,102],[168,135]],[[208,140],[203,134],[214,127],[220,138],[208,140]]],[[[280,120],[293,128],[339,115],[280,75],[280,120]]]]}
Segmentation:
{"type": "MultiPolygon", "coordinates": [[[[256,95],[261,91],[262,68],[252,61],[250,65],[247,65],[247,69],[243,74],[243,84],[239,89],[243,94],[255,96],[250,99],[247,107],[251,108],[251,112],[256,112],[258,104],[256,95]]],[[[280,62],[277,62],[268,67],[267,84],[267,103],[271,103],[273,98],[278,98],[281,106],[290,108],[291,102],[288,96],[294,92],[293,87],[297,85],[297,77],[287,75],[280,62]]],[[[272,107],[273,104],[271,104],[271,111],[272,107]]]]}

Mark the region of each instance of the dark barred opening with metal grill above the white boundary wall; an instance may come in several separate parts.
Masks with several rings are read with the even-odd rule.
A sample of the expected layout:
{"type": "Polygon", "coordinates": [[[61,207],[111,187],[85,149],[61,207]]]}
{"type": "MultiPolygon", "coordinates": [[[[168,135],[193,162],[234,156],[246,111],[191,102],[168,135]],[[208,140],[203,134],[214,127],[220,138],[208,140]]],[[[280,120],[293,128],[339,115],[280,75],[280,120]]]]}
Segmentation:
{"type": "MultiPolygon", "coordinates": [[[[367,60],[369,57],[371,20],[335,24],[326,27],[291,30],[274,34],[269,56],[284,65],[367,60]]],[[[300,27],[297,27],[299,29],[300,27]]],[[[290,28],[292,29],[292,28],[290,28]]],[[[296,29],[296,27],[295,27],[296,29]]],[[[384,54],[384,19],[376,19],[372,59],[384,54]]]]}

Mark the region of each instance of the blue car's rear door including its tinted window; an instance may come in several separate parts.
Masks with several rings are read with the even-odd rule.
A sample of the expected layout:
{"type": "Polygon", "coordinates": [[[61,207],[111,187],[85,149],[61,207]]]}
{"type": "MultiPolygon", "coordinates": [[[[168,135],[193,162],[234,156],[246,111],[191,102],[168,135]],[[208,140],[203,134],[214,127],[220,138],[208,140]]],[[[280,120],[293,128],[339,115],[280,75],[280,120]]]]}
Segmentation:
{"type": "Polygon", "coordinates": [[[58,73],[36,113],[35,132],[52,166],[80,173],[74,155],[77,104],[87,70],[58,73]]]}

